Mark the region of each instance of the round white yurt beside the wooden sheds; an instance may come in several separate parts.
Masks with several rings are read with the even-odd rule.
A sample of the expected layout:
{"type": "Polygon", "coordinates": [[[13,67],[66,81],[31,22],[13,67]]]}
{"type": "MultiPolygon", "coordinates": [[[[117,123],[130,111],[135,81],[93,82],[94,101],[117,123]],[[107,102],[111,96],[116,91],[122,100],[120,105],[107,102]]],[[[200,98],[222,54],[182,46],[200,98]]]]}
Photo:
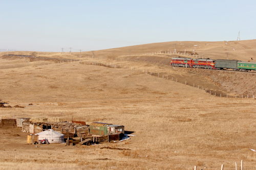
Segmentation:
{"type": "Polygon", "coordinates": [[[39,132],[36,135],[39,135],[38,140],[42,140],[42,139],[47,138],[49,143],[63,143],[63,142],[65,142],[64,141],[64,136],[65,135],[63,135],[61,133],[58,133],[58,132],[56,132],[52,129],[48,129],[46,131],[39,132]]]}

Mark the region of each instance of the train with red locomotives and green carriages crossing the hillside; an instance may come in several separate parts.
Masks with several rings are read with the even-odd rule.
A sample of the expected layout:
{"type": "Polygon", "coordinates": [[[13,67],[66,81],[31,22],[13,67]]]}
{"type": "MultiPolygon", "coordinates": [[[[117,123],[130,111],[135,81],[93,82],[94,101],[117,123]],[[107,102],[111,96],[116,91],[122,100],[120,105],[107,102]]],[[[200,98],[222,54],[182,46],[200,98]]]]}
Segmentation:
{"type": "Polygon", "coordinates": [[[206,69],[232,69],[234,71],[256,71],[256,62],[222,59],[193,59],[175,57],[170,61],[170,65],[176,67],[206,68],[206,69]]]}

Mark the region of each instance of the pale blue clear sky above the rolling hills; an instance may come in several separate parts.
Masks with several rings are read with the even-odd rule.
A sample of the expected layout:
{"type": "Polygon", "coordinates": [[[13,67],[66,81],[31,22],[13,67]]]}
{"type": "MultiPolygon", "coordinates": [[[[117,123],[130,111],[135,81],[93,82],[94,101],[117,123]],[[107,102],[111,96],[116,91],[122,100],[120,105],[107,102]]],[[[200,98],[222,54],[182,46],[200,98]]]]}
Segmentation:
{"type": "Polygon", "coordinates": [[[256,1],[0,0],[0,49],[96,51],[167,41],[256,39],[256,1]]]}

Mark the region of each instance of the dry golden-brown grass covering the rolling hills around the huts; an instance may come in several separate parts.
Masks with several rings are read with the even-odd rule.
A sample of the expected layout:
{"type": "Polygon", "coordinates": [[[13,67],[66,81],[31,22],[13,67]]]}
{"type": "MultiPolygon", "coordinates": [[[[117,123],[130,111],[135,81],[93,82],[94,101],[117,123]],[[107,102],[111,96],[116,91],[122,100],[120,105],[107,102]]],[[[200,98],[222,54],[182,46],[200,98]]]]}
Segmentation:
{"type": "Polygon", "coordinates": [[[235,169],[235,162],[240,169],[241,160],[244,169],[255,169],[256,152],[250,149],[256,150],[256,101],[252,99],[256,73],[173,68],[169,61],[175,55],[145,55],[174,50],[173,43],[178,44],[177,50],[195,50],[204,58],[226,59],[228,52],[229,59],[248,61],[256,54],[256,40],[144,44],[95,51],[96,58],[91,58],[91,52],[82,52],[81,58],[80,53],[36,54],[122,65],[111,68],[0,53],[0,100],[25,106],[0,108],[1,117],[60,121],[73,116],[87,124],[123,125],[136,135],[89,147],[49,144],[36,148],[26,144],[27,133],[20,128],[0,127],[0,169],[194,169],[195,165],[220,169],[224,164],[226,170],[235,169]],[[127,50],[133,50],[131,56],[127,50]],[[247,94],[249,99],[241,99],[247,94]]]}

